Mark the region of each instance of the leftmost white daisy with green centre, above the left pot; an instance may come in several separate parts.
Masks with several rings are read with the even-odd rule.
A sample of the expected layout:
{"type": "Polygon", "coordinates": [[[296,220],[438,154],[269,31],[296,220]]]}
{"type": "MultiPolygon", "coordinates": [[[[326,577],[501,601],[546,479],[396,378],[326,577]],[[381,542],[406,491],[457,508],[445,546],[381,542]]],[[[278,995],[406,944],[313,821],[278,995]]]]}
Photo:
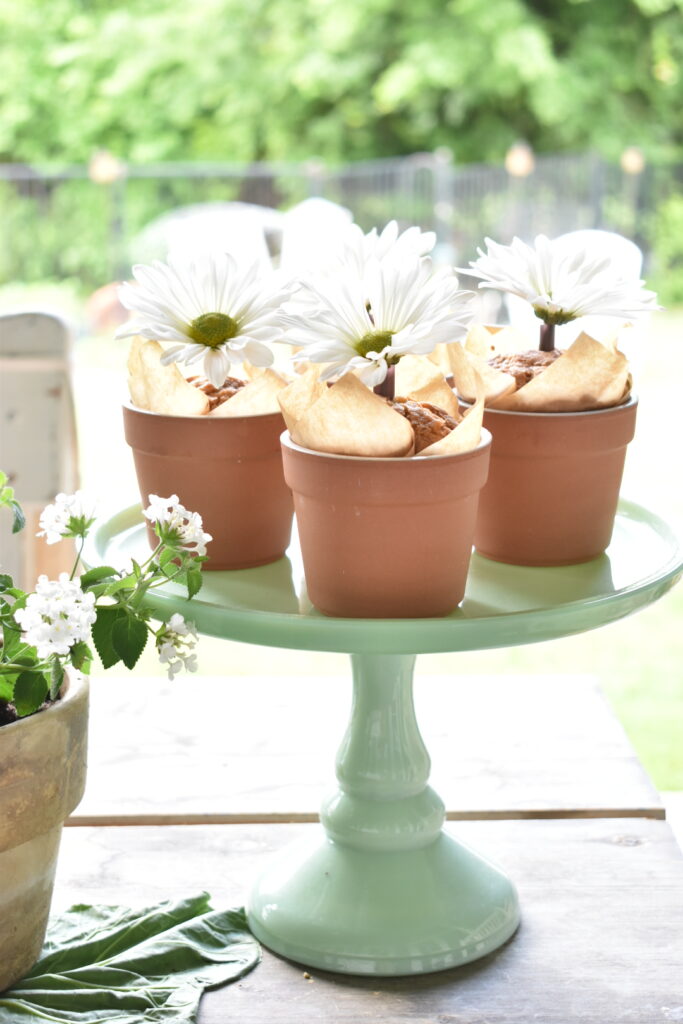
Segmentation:
{"type": "Polygon", "coordinates": [[[256,263],[240,265],[228,253],[170,256],[133,267],[137,285],[122,285],[121,303],[136,313],[117,338],[141,335],[173,341],[162,362],[203,360],[205,375],[220,387],[231,362],[272,362],[281,341],[280,310],[289,291],[256,263]]]}

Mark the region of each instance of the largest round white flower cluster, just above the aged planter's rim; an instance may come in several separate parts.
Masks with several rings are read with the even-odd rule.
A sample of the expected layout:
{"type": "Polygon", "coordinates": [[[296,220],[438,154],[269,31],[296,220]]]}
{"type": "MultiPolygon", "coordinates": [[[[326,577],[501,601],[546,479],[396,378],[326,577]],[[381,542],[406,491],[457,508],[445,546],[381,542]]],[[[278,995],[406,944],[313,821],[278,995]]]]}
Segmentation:
{"type": "Polygon", "coordinates": [[[87,643],[95,617],[95,595],[84,594],[78,581],[66,572],[58,580],[39,577],[26,607],[14,612],[26,642],[36,647],[41,658],[68,654],[80,640],[87,643]]]}

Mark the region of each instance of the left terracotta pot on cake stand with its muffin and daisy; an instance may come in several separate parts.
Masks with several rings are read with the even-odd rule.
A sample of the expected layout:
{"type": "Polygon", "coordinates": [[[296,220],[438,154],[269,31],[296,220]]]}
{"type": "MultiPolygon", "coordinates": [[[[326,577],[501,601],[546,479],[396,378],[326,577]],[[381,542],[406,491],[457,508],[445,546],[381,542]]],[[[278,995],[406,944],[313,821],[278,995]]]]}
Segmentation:
{"type": "Polygon", "coordinates": [[[169,257],[133,276],[121,301],[135,318],[117,337],[136,336],[123,413],[142,504],[172,492],[196,509],[214,538],[211,569],[281,558],[293,512],[280,456],[286,381],[267,368],[289,289],[227,253],[169,257]],[[178,364],[204,376],[186,379],[178,364]]]}

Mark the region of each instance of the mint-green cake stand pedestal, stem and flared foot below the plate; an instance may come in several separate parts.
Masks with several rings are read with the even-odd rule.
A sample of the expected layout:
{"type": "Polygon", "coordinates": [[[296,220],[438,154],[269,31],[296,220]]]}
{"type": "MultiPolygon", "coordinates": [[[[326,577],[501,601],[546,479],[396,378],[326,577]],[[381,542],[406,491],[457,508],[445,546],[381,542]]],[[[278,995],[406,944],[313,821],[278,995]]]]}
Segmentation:
{"type": "Polygon", "coordinates": [[[322,828],[281,851],[249,901],[255,935],[309,967],[425,974],[496,949],[512,883],[443,831],[413,705],[414,655],[352,654],[353,701],[322,828]]]}

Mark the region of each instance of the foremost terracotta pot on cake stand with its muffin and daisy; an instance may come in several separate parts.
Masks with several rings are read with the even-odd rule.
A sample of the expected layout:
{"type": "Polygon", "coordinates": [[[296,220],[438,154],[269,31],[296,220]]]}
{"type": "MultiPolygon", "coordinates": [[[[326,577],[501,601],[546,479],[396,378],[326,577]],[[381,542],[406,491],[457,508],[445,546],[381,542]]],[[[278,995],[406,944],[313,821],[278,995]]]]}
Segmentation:
{"type": "Polygon", "coordinates": [[[356,229],[286,318],[304,373],[281,393],[285,477],[316,608],[444,615],[464,595],[489,437],[433,365],[415,389],[400,365],[461,336],[470,296],[434,271],[417,228],[386,242],[356,229]]]}

